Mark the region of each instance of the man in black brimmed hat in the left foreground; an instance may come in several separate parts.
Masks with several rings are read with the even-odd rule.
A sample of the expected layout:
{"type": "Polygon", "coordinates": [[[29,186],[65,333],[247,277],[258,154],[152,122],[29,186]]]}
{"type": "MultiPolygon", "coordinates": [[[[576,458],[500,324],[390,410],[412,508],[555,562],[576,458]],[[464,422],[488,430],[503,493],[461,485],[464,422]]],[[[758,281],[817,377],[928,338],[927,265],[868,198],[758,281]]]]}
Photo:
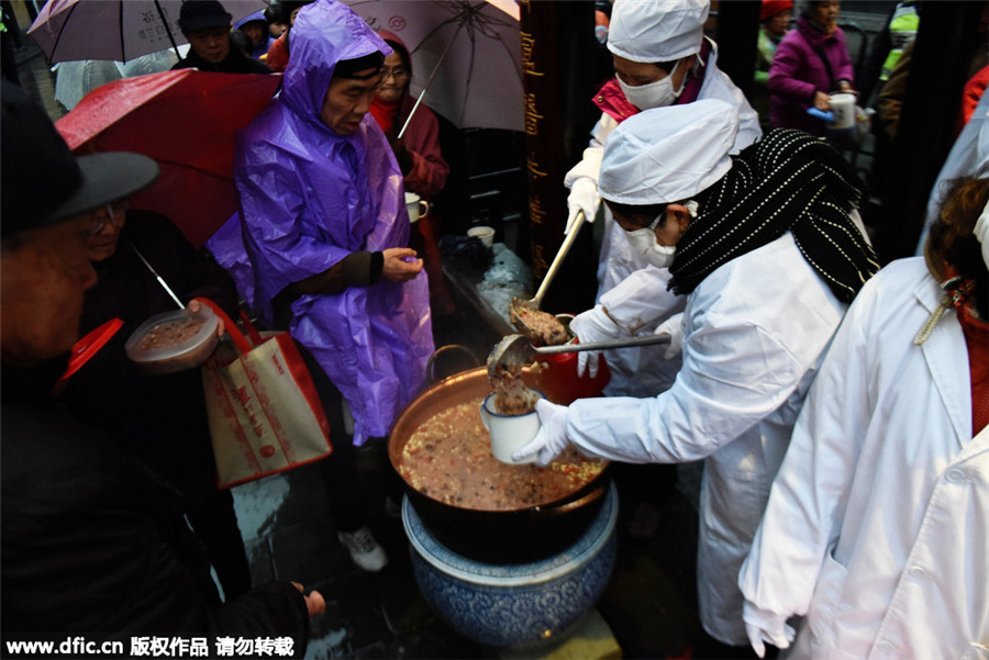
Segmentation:
{"type": "Polygon", "coordinates": [[[148,186],[157,166],[126,153],[75,158],[23,90],[4,80],[0,91],[4,651],[33,641],[60,645],[35,647],[44,656],[121,657],[137,639],[168,636],[179,645],[174,656],[197,655],[193,644],[213,656],[221,639],[267,637],[301,656],[322,596],[268,582],[221,604],[174,492],[52,403],[97,280],[87,235],[107,204],[148,186]]]}

